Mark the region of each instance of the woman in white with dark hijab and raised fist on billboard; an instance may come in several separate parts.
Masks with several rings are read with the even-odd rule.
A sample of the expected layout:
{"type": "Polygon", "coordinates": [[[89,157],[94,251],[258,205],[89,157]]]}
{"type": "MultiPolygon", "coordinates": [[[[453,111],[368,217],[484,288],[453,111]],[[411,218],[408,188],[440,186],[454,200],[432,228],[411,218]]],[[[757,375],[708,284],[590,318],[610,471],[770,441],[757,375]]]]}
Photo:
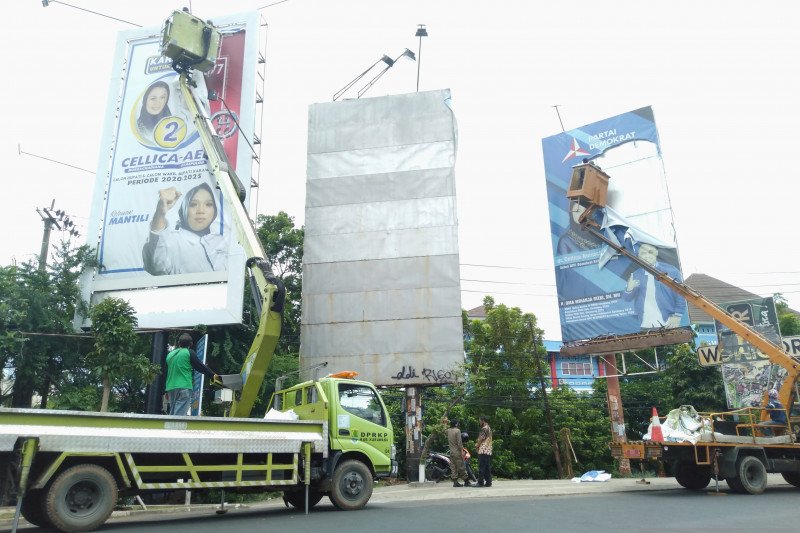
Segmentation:
{"type": "Polygon", "coordinates": [[[228,236],[211,232],[219,213],[214,191],[207,183],[190,189],[183,195],[178,223],[167,229],[167,212],[181,196],[175,187],[158,191],[150,235],[142,248],[144,269],[154,276],[227,270],[228,236]]]}

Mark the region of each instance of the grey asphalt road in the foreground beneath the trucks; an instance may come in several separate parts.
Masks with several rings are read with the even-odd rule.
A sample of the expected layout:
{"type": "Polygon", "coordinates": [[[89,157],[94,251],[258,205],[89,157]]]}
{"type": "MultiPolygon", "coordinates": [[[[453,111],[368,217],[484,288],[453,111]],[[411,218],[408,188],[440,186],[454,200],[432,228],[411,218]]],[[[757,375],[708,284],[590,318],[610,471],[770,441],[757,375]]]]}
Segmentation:
{"type": "MultiPolygon", "coordinates": [[[[438,487],[437,487],[438,488],[438,487]]],[[[464,489],[480,491],[482,489],[464,489]]],[[[323,500],[302,512],[270,505],[234,509],[216,515],[213,509],[191,513],[142,514],[115,518],[99,531],[133,533],[220,533],[238,531],[324,531],[347,533],[473,532],[796,532],[798,489],[774,486],[762,495],[680,488],[630,492],[598,492],[557,496],[449,497],[428,500],[378,499],[361,511],[337,511],[323,500]]],[[[21,531],[40,531],[26,527],[21,531]]]]}

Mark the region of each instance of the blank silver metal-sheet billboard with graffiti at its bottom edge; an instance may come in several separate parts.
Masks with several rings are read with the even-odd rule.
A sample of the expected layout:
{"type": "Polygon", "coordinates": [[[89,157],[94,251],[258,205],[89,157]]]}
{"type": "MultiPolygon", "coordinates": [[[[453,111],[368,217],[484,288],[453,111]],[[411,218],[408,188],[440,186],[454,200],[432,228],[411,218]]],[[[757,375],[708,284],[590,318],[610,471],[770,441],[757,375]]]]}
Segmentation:
{"type": "Polygon", "coordinates": [[[300,367],[376,385],[457,381],[450,91],[314,104],[308,123],[300,367]]]}

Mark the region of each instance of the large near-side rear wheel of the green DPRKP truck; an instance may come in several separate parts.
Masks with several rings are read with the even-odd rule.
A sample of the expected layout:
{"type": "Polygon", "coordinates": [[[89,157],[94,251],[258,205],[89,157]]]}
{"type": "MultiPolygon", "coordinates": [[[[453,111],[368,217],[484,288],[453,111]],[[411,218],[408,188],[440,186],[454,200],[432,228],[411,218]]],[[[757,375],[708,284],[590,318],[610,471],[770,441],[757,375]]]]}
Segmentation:
{"type": "Polygon", "coordinates": [[[45,509],[61,531],[90,531],[111,515],[117,503],[117,482],[103,467],[76,465],[62,472],[47,489],[45,509]]]}

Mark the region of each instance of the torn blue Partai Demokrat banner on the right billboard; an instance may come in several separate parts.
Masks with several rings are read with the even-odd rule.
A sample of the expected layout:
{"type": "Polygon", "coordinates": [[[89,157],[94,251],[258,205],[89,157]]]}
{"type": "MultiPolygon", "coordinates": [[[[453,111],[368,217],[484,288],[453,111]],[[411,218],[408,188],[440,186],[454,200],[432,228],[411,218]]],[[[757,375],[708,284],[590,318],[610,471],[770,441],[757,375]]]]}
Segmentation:
{"type": "Polygon", "coordinates": [[[683,280],[653,110],[644,107],[542,139],[564,342],[689,325],[686,301],[586,232],[567,198],[572,169],[610,176],[600,231],[683,280]]]}

